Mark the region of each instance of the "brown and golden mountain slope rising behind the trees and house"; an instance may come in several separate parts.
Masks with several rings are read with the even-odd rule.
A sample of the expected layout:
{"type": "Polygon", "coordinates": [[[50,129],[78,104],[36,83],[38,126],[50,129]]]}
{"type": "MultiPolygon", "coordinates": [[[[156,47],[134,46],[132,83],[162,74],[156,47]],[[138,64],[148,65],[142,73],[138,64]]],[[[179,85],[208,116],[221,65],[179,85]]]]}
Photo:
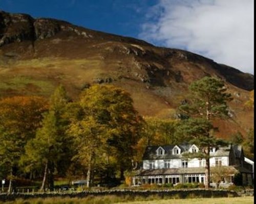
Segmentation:
{"type": "Polygon", "coordinates": [[[78,27],[66,21],[0,11],[0,96],[49,96],[63,84],[75,99],[89,84],[129,91],[142,115],[170,117],[188,85],[204,76],[225,81],[232,120],[216,121],[221,137],[253,127],[244,109],[254,76],[180,49],[78,27]]]}

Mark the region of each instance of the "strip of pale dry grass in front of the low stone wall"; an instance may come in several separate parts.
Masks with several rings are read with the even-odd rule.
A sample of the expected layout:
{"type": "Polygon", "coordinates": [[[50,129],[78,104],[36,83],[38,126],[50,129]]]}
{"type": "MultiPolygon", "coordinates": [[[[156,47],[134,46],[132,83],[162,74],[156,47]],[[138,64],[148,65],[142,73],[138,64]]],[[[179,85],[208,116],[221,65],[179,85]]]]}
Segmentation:
{"type": "MultiPolygon", "coordinates": [[[[125,201],[126,198],[117,198],[116,196],[104,196],[104,197],[91,197],[86,198],[35,198],[35,199],[16,199],[15,201],[6,201],[0,203],[5,204],[252,204],[253,196],[246,197],[223,197],[223,198],[187,198],[187,199],[158,199],[155,197],[144,198],[146,201],[125,201]]],[[[137,198],[142,200],[142,198],[137,198]]],[[[136,200],[136,198],[135,198],[136,200]]]]}

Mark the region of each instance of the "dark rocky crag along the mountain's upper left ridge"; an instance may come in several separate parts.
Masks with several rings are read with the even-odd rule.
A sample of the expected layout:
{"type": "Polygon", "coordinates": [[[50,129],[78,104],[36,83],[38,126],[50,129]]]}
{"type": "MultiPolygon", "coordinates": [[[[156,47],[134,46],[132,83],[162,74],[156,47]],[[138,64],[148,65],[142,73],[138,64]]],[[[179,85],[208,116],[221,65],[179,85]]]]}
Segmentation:
{"type": "Polygon", "coordinates": [[[0,47],[12,42],[25,40],[35,41],[50,38],[59,32],[71,32],[73,35],[83,38],[93,38],[96,35],[101,39],[116,39],[117,41],[140,42],[149,44],[133,38],[120,38],[111,34],[92,31],[73,25],[67,21],[51,18],[32,18],[28,14],[11,14],[0,11],[0,47]]]}

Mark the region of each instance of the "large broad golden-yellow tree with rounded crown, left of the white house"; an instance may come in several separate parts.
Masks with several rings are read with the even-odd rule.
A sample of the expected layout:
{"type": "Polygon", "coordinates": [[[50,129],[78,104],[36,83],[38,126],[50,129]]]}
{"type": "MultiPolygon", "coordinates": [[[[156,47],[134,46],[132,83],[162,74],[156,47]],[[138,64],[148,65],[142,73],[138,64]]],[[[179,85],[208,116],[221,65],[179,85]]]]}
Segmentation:
{"type": "MultiPolygon", "coordinates": [[[[94,85],[81,93],[79,106],[80,111],[77,111],[77,116],[71,122],[72,134],[81,144],[82,138],[88,138],[87,142],[97,146],[95,137],[101,143],[100,153],[91,151],[93,155],[87,157],[87,161],[91,161],[88,170],[91,171],[90,163],[94,162],[95,166],[97,158],[105,157],[106,164],[111,161],[116,163],[123,179],[124,170],[131,168],[131,161],[136,155],[135,146],[142,124],[130,94],[114,86],[94,85]],[[91,129],[91,126],[95,128],[91,129]]],[[[89,143],[84,143],[84,148],[89,148],[89,143]]],[[[79,152],[82,148],[77,150],[79,152]]],[[[91,180],[90,176],[88,179],[91,180]]]]}

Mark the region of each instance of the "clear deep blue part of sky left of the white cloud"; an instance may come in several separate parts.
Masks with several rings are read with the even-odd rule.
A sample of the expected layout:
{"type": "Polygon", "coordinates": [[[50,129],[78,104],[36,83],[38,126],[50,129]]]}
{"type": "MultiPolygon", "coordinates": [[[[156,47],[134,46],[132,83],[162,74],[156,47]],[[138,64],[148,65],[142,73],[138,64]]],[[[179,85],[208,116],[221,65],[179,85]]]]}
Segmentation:
{"type": "Polygon", "coordinates": [[[157,0],[0,0],[12,13],[67,20],[93,30],[138,38],[148,8],[157,0]]]}

